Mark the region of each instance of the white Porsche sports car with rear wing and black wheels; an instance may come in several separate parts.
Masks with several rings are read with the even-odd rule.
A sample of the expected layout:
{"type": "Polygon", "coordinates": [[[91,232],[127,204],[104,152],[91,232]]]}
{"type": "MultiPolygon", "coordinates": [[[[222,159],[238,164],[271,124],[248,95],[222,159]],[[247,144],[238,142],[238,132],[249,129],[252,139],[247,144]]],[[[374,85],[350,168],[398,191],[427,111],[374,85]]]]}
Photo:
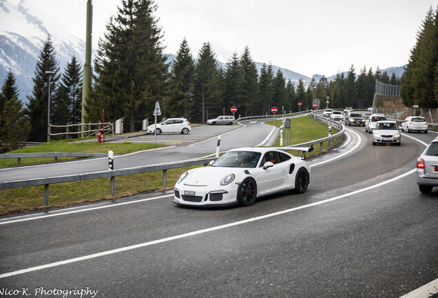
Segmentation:
{"type": "Polygon", "coordinates": [[[284,150],[311,152],[313,148],[239,148],[211,166],[188,170],[174,186],[174,203],[187,206],[250,206],[275,192],[304,193],[311,169],[304,158],[284,150]]]}

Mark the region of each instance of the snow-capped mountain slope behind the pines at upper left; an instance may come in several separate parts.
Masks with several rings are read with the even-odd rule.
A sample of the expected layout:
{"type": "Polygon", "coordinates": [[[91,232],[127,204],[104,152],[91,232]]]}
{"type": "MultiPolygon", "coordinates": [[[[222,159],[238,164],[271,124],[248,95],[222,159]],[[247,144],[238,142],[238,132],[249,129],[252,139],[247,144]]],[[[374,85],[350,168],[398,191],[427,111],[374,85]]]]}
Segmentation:
{"type": "Polygon", "coordinates": [[[85,42],[49,14],[25,0],[0,0],[0,85],[12,70],[22,101],[32,93],[36,61],[49,34],[61,72],[73,55],[83,64],[85,42]]]}

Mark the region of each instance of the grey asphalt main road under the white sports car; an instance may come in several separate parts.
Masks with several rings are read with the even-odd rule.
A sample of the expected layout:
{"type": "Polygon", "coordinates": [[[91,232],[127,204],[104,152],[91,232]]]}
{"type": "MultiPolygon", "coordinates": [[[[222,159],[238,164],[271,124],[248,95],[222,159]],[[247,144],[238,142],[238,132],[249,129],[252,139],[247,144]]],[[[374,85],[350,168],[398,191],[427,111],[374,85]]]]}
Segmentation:
{"type": "Polygon", "coordinates": [[[309,161],[303,195],[196,209],[163,192],[0,219],[0,290],[401,297],[435,281],[438,192],[419,192],[413,169],[424,145],[410,137],[436,135],[372,146],[364,128],[347,130],[341,148],[309,161]]]}

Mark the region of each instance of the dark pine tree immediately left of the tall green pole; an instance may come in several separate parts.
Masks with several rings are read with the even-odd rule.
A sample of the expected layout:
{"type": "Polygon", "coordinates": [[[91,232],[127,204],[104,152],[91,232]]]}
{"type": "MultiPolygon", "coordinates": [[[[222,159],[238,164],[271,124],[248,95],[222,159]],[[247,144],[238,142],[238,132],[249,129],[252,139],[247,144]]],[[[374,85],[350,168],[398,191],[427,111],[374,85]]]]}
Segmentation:
{"type": "Polygon", "coordinates": [[[72,57],[61,78],[57,100],[54,102],[53,123],[66,125],[81,123],[82,70],[81,64],[72,57]]]}

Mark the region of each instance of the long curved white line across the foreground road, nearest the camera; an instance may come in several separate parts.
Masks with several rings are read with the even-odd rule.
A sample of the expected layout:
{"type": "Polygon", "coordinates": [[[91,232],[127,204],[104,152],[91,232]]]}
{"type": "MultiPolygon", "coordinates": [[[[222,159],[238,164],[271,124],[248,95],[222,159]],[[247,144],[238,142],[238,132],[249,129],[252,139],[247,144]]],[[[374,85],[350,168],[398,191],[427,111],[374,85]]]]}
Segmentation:
{"type": "Polygon", "coordinates": [[[291,209],[287,209],[287,210],[282,210],[282,211],[279,211],[279,212],[274,212],[274,213],[271,213],[271,214],[268,214],[268,215],[262,215],[260,217],[253,217],[251,219],[245,219],[245,220],[242,220],[242,221],[235,221],[235,222],[232,222],[232,223],[229,223],[229,224],[225,224],[225,225],[222,225],[222,226],[216,226],[216,227],[212,227],[212,228],[196,230],[194,232],[187,232],[185,234],[176,235],[176,236],[173,236],[173,237],[167,237],[167,238],[163,238],[163,239],[158,239],[158,240],[154,240],[154,241],[149,241],[149,242],[145,242],[143,244],[136,244],[136,245],[133,245],[133,246],[125,246],[123,248],[116,248],[114,250],[107,250],[107,251],[104,251],[104,252],[98,252],[98,253],[95,253],[95,254],[92,254],[92,255],[85,255],[83,257],[76,257],[76,258],[73,258],[73,259],[66,259],[64,261],[57,261],[57,262],[54,262],[54,263],[45,264],[45,265],[41,265],[41,266],[35,266],[35,267],[30,267],[30,268],[26,268],[26,269],[22,269],[22,270],[7,272],[7,273],[1,274],[0,275],[0,279],[6,278],[6,277],[12,277],[14,275],[22,275],[22,274],[25,274],[25,273],[28,273],[28,272],[37,271],[37,270],[53,268],[53,267],[57,267],[57,266],[65,265],[65,264],[72,264],[72,263],[76,263],[78,261],[84,261],[84,260],[87,260],[87,259],[94,259],[94,258],[97,258],[97,257],[106,256],[106,255],[113,255],[113,254],[116,254],[118,252],[125,252],[127,250],[134,250],[134,249],[137,249],[137,248],[144,248],[146,246],[152,246],[152,245],[155,245],[155,244],[161,244],[161,243],[164,243],[164,242],[174,241],[176,239],[192,237],[192,236],[196,236],[196,235],[200,235],[200,234],[205,234],[207,232],[213,232],[213,231],[216,231],[216,230],[222,230],[222,229],[225,229],[225,228],[230,228],[230,227],[233,227],[233,226],[240,226],[242,224],[247,224],[247,223],[250,223],[250,222],[253,222],[253,221],[260,221],[262,219],[267,219],[267,218],[275,217],[275,216],[278,216],[278,215],[284,215],[286,213],[294,212],[294,211],[297,211],[297,210],[301,210],[301,209],[310,208],[310,207],[313,207],[313,206],[322,205],[324,203],[329,203],[331,201],[336,201],[338,199],[343,199],[344,197],[349,197],[349,196],[352,196],[352,195],[356,195],[359,192],[366,192],[368,190],[372,190],[374,188],[378,188],[380,186],[384,186],[384,185],[386,185],[388,183],[391,183],[393,181],[396,181],[398,179],[404,178],[404,177],[406,177],[406,176],[408,176],[410,174],[413,174],[414,172],[415,172],[415,169],[410,170],[410,171],[408,171],[408,172],[406,172],[406,173],[404,173],[402,175],[399,175],[397,177],[394,177],[393,179],[389,179],[389,180],[383,181],[381,183],[377,183],[377,184],[375,184],[373,186],[368,186],[367,188],[363,188],[362,190],[355,190],[353,192],[349,192],[349,193],[344,194],[344,195],[333,197],[331,199],[326,199],[324,201],[317,201],[315,203],[310,203],[310,204],[307,204],[307,205],[304,205],[304,206],[295,207],[295,208],[291,208],[291,209]]]}

